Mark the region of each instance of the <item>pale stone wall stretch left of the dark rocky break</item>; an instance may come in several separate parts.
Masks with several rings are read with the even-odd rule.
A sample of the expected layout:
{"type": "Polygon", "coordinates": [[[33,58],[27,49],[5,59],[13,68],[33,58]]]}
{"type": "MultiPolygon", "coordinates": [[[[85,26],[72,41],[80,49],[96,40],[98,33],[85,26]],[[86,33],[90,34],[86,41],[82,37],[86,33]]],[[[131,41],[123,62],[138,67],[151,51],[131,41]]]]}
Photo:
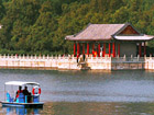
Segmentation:
{"type": "Polygon", "coordinates": [[[48,68],[80,69],[74,57],[45,56],[0,56],[0,67],[6,68],[48,68]]]}

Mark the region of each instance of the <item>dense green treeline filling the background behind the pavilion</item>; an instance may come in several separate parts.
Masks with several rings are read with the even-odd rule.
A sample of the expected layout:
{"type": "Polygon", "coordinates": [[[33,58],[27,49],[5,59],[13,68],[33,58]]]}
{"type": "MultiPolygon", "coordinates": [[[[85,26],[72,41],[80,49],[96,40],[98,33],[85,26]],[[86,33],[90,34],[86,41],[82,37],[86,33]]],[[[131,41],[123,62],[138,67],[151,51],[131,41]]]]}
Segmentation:
{"type": "MultiPolygon", "coordinates": [[[[152,0],[0,0],[0,53],[64,54],[88,23],[132,23],[154,35],[152,0]]],[[[148,44],[154,47],[154,42],[148,44]]]]}

